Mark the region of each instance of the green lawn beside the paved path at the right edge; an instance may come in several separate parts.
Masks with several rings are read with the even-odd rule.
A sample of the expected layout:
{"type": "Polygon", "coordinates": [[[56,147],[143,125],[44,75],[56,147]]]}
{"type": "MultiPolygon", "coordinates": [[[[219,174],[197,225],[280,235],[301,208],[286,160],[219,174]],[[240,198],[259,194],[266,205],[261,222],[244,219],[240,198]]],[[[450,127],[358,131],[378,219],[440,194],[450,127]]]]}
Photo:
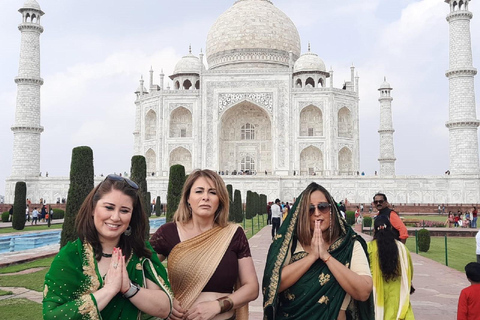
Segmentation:
{"type": "MultiPolygon", "coordinates": [[[[465,272],[465,265],[476,262],[475,238],[473,237],[448,237],[448,266],[461,272],[465,272]]],[[[409,237],[407,248],[415,253],[415,237],[409,237]]],[[[445,265],[445,237],[431,237],[428,252],[418,252],[419,255],[437,261],[445,265]]]]}

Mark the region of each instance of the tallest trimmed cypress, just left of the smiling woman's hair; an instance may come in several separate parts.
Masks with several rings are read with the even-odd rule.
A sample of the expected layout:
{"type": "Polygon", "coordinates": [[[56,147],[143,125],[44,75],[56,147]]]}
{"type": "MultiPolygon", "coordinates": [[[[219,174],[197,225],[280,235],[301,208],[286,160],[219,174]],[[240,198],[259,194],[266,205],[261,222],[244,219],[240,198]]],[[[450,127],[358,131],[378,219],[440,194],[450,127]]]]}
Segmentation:
{"type": "Polygon", "coordinates": [[[70,163],[70,187],[68,188],[67,207],[63,221],[60,247],[68,241],[77,239],[75,219],[83,201],[94,187],[93,151],[90,147],[76,147],[72,150],[70,163]]]}

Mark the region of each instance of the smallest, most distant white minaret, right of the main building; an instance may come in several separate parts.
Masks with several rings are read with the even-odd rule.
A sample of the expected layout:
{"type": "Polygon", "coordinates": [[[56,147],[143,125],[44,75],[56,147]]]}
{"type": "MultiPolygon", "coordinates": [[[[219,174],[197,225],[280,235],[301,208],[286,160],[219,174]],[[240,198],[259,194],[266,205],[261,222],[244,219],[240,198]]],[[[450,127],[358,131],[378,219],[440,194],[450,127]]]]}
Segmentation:
{"type": "Polygon", "coordinates": [[[395,175],[395,152],[393,148],[393,121],[392,121],[392,100],[390,91],[393,88],[384,79],[380,86],[380,176],[394,176],[395,175]]]}

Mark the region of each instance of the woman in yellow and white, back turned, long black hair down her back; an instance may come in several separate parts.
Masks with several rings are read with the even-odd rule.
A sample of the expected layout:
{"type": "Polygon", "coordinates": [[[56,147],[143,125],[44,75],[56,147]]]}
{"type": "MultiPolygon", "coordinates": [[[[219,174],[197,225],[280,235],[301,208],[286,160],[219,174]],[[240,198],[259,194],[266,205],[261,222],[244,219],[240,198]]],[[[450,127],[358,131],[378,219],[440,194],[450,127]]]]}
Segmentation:
{"type": "Polygon", "coordinates": [[[406,246],[395,239],[390,220],[378,216],[368,243],[375,319],[414,319],[410,304],[413,265],[406,246]]]}

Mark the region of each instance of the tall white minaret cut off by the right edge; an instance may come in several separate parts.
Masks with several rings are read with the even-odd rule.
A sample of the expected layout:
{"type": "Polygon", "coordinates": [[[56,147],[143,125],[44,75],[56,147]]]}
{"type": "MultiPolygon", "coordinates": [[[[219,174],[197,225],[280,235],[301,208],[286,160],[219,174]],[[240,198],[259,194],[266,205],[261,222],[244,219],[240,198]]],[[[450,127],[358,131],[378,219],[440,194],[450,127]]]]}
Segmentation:
{"type": "Polygon", "coordinates": [[[450,140],[450,173],[452,175],[479,174],[478,136],[470,39],[469,0],[445,0],[450,5],[447,21],[450,29],[449,68],[445,75],[449,82],[449,118],[445,124],[450,140]]]}

